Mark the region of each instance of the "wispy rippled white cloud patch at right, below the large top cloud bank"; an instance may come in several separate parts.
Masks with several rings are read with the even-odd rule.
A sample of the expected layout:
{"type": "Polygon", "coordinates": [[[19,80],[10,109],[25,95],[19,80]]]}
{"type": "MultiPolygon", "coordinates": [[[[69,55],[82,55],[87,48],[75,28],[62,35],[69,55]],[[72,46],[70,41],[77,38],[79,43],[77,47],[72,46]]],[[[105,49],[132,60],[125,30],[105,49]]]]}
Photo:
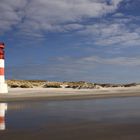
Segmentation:
{"type": "Polygon", "coordinates": [[[104,20],[102,23],[86,25],[78,33],[90,36],[90,41],[100,46],[139,46],[140,27],[132,21],[135,21],[133,17],[104,20]]]}

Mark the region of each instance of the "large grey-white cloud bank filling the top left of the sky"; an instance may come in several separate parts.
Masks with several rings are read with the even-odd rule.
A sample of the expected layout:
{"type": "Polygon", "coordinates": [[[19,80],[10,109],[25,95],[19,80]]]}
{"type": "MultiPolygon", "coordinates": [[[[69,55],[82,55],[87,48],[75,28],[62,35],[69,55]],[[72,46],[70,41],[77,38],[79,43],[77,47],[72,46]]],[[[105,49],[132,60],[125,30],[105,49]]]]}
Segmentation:
{"type": "Polygon", "coordinates": [[[13,27],[23,33],[63,31],[66,27],[62,23],[114,12],[121,1],[111,0],[108,4],[106,0],[0,0],[0,33],[13,27]]]}

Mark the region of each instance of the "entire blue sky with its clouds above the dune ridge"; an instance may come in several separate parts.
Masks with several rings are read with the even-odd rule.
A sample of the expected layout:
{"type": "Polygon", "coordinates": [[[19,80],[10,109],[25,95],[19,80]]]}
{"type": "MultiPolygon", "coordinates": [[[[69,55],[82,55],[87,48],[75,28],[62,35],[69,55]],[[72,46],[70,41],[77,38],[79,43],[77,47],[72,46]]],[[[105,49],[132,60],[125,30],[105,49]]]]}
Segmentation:
{"type": "Polygon", "coordinates": [[[7,79],[140,82],[139,0],[0,0],[7,79]]]}

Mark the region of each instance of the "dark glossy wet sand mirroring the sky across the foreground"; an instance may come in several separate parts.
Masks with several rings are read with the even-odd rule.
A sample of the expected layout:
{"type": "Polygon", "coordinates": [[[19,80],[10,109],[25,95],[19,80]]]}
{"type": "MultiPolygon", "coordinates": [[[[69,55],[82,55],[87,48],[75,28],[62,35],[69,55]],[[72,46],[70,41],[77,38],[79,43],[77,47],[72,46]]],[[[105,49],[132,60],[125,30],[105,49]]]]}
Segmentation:
{"type": "Polygon", "coordinates": [[[10,102],[0,140],[139,140],[140,97],[10,102]]]}

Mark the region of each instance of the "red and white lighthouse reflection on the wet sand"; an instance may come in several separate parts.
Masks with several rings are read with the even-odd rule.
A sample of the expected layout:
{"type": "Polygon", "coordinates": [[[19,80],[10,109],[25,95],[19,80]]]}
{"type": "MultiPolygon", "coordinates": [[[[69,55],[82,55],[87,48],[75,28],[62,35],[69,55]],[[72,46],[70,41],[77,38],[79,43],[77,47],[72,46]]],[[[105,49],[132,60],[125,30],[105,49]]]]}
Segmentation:
{"type": "Polygon", "coordinates": [[[7,111],[7,103],[0,103],[0,131],[5,130],[5,113],[7,111]]]}

